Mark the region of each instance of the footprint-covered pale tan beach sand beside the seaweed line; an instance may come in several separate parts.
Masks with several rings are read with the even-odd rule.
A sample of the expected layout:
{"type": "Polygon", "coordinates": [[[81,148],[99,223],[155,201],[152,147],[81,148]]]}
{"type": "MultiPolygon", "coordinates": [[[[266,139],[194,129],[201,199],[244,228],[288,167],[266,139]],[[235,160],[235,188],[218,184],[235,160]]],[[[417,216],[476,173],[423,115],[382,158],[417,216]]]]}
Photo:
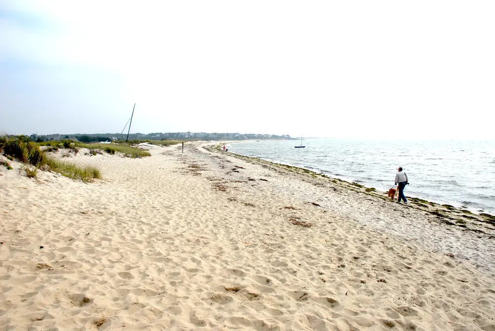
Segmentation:
{"type": "Polygon", "coordinates": [[[0,166],[0,331],[495,330],[486,235],[205,143],[150,152],[66,157],[89,184],[0,166]]]}

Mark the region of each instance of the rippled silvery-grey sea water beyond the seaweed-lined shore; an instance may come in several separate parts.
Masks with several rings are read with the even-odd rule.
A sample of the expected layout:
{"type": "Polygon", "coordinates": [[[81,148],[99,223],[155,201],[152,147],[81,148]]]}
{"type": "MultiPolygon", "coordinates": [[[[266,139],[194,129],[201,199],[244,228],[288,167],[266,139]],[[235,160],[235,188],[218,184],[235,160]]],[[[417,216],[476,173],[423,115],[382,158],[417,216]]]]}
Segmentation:
{"type": "Polygon", "coordinates": [[[397,168],[409,179],[405,195],[495,214],[495,142],[357,141],[336,139],[249,141],[229,151],[306,168],[388,191],[397,168]]]}

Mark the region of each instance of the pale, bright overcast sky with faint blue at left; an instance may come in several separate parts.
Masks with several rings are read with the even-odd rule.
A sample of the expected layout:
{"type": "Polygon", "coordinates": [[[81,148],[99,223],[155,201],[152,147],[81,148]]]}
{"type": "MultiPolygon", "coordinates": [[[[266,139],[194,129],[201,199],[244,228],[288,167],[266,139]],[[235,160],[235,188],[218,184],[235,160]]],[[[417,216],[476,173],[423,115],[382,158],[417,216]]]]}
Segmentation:
{"type": "Polygon", "coordinates": [[[495,139],[495,1],[0,0],[0,132],[495,139]]]}

